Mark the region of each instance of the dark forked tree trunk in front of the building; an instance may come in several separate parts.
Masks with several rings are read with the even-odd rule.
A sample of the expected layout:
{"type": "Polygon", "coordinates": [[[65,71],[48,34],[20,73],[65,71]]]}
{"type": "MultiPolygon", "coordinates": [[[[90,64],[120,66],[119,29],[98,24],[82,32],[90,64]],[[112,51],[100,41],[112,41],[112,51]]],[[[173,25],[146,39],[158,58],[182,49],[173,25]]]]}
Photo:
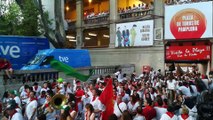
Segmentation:
{"type": "MultiPolygon", "coordinates": [[[[23,4],[27,0],[16,0],[16,3],[20,6],[20,8],[25,9],[23,4]]],[[[50,27],[50,20],[48,19],[48,14],[44,11],[42,0],[31,0],[33,4],[37,7],[39,12],[39,20],[41,23],[41,27],[44,32],[44,36],[48,38],[48,40],[52,43],[52,45],[56,48],[64,48],[66,41],[66,34],[64,29],[64,22],[62,16],[62,1],[61,0],[52,0],[54,2],[55,8],[55,19],[52,22],[55,22],[55,29],[50,27]]]]}

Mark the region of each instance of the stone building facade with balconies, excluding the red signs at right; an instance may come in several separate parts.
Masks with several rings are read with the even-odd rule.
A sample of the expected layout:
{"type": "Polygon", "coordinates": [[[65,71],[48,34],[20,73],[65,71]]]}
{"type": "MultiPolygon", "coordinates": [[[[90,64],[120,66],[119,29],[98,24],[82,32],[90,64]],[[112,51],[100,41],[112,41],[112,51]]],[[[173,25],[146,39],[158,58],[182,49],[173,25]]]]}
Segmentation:
{"type": "Polygon", "coordinates": [[[89,49],[93,65],[164,70],[163,7],[163,0],[67,0],[70,48],[89,49]]]}

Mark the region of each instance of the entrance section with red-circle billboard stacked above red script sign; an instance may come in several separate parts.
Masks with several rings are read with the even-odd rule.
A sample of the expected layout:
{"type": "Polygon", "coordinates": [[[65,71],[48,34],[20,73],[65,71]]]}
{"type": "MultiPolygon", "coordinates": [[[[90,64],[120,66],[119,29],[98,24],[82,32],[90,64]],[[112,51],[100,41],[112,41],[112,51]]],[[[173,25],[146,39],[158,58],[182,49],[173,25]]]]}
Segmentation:
{"type": "Polygon", "coordinates": [[[185,71],[196,66],[202,74],[211,69],[213,2],[165,6],[165,63],[185,71]],[[209,10],[206,11],[205,8],[209,10]]]}

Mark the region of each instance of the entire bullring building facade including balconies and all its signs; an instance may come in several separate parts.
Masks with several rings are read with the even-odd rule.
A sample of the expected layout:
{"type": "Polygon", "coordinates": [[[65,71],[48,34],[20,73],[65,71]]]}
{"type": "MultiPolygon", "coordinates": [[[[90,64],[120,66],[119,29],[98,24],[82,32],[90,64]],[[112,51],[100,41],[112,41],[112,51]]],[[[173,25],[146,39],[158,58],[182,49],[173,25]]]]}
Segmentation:
{"type": "MultiPolygon", "coordinates": [[[[193,69],[196,65],[199,71],[205,74],[210,71],[212,64],[212,19],[207,17],[211,28],[205,29],[207,31],[204,36],[197,37],[197,33],[193,32],[190,33],[191,36],[184,36],[189,34],[185,33],[186,29],[196,30],[199,15],[195,16],[196,18],[193,16],[190,18],[188,14],[194,14],[193,10],[198,8],[195,7],[186,15],[178,14],[178,19],[185,17],[186,22],[171,21],[171,13],[197,5],[204,11],[209,9],[212,12],[211,2],[194,2],[66,0],[64,11],[65,20],[68,22],[67,40],[70,41],[70,48],[89,49],[93,65],[130,63],[136,65],[137,73],[141,73],[145,66],[153,67],[155,70],[166,70],[172,63],[175,63],[183,67],[185,71],[193,69]],[[206,5],[208,7],[205,7],[206,5]],[[171,29],[171,25],[175,26],[180,23],[186,24],[186,26],[179,27],[182,30],[181,33],[185,34],[178,34],[178,31],[176,31],[178,35],[173,34],[174,30],[171,29]],[[195,26],[187,27],[188,24],[195,24],[195,26]],[[188,57],[176,55],[180,50],[184,54],[183,51],[187,51],[186,49],[193,57],[190,57],[189,53],[188,57]],[[199,51],[202,52],[198,54],[199,51]]],[[[212,13],[208,12],[204,14],[204,17],[208,14],[212,13]]]]}

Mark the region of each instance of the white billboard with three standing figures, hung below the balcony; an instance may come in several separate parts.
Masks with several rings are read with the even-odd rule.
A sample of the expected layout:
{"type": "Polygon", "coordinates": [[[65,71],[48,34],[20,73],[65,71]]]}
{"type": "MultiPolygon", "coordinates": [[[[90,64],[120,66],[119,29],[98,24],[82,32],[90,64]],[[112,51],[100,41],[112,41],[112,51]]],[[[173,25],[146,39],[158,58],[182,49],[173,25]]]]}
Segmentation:
{"type": "Polygon", "coordinates": [[[153,45],[153,20],[116,25],[115,47],[153,45]]]}

